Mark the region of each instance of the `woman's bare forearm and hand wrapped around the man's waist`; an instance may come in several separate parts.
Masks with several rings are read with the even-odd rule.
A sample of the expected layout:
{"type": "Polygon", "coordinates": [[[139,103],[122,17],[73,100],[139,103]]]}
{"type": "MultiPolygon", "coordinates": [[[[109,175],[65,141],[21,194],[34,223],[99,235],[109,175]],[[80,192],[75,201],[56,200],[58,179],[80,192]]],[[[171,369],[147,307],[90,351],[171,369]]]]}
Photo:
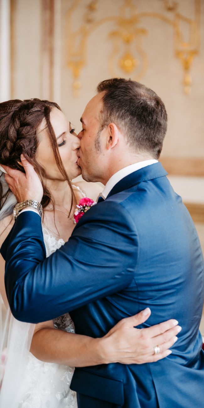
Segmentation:
{"type": "Polygon", "coordinates": [[[160,360],[171,353],[169,348],[175,343],[180,329],[175,320],[149,328],[135,328],[148,319],[151,312],[149,309],[146,312],[146,315],[140,312],[121,320],[98,339],[53,329],[52,321],[36,324],[30,351],[42,361],[73,367],[115,362],[143,364],[160,360]],[[155,355],[154,347],[158,344],[160,354],[155,355]]]}

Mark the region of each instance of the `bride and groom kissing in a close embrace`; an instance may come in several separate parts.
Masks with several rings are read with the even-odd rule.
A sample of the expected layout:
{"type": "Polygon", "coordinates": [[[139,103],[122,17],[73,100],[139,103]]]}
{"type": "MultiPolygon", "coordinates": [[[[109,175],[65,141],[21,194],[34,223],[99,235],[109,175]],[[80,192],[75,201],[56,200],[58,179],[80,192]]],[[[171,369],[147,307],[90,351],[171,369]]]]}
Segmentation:
{"type": "Polygon", "coordinates": [[[78,136],[53,102],[0,104],[2,297],[32,353],[8,346],[2,407],[204,406],[204,263],[158,162],[164,103],[122,78],[97,91],[78,136]],[[71,184],[81,171],[86,182],[71,184]],[[81,201],[91,208],[74,228],[76,204],[98,195],[81,201]],[[19,354],[14,406],[6,384],[19,354]]]}

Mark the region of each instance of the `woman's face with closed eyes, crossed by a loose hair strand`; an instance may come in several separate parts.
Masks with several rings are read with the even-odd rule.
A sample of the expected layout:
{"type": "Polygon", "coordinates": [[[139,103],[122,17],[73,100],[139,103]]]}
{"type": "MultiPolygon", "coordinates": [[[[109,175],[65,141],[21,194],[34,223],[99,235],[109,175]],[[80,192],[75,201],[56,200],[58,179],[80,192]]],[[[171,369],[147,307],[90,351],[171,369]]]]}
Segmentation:
{"type": "MultiPolygon", "coordinates": [[[[81,169],[77,165],[80,140],[64,113],[59,109],[53,108],[51,110],[50,121],[55,132],[62,163],[71,180],[81,174],[81,169]]],[[[39,145],[35,158],[44,167],[48,179],[63,180],[55,162],[51,141],[45,126],[44,120],[38,129],[39,145]]]]}

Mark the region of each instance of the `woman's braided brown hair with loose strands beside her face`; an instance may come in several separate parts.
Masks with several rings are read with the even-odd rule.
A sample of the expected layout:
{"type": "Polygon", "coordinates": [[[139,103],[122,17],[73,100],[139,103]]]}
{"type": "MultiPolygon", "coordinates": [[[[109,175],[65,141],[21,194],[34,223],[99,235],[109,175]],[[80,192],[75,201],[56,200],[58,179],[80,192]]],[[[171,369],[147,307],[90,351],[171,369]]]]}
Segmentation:
{"type": "MultiPolygon", "coordinates": [[[[72,208],[73,204],[76,204],[75,195],[68,174],[62,163],[55,132],[50,121],[50,112],[54,107],[61,111],[55,102],[37,98],[28,100],[15,99],[0,103],[0,164],[5,164],[12,169],[18,169],[24,172],[22,166],[18,164],[18,162],[20,162],[20,155],[23,153],[26,159],[35,168],[42,182],[44,192],[41,201],[42,207],[45,208],[50,202],[53,203],[51,193],[43,181],[46,178],[46,171],[35,160],[35,153],[39,144],[38,128],[42,121],[45,120],[56,164],[71,190],[72,208]]],[[[10,190],[8,189],[6,193],[3,193],[2,182],[0,180],[0,209],[6,201],[9,192],[10,190]]]]}

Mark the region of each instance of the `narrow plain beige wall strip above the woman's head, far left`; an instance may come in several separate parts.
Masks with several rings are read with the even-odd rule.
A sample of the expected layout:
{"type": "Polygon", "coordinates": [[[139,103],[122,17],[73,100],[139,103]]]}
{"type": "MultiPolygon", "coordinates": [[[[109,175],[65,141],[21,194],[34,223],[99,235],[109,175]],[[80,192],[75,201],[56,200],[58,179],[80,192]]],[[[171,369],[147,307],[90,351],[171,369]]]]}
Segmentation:
{"type": "Polygon", "coordinates": [[[11,2],[13,12],[12,98],[41,98],[41,0],[11,2]]]}

